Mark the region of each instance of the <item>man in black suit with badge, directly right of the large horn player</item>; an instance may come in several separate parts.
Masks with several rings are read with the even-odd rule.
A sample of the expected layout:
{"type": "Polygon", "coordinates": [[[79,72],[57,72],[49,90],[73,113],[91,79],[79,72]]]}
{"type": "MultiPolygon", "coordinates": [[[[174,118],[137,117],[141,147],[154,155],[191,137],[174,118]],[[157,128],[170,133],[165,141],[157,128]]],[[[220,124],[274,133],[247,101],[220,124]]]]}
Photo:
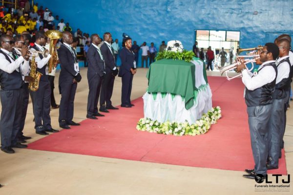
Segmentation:
{"type": "Polygon", "coordinates": [[[70,46],[73,38],[70,32],[63,32],[63,44],[58,49],[58,57],[61,66],[59,75],[59,92],[61,101],[59,107],[59,126],[63,129],[70,129],[68,125],[80,125],[73,122],[74,97],[77,83],[82,76],[79,73],[77,56],[70,46]]]}

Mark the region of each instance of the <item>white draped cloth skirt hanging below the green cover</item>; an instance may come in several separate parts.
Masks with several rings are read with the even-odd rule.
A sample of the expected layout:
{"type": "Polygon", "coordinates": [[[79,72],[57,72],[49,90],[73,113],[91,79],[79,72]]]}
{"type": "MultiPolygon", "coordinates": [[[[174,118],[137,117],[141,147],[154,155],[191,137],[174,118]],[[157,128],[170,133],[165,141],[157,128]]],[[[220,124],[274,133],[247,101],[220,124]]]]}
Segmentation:
{"type": "Polygon", "coordinates": [[[193,99],[193,106],[186,110],[185,101],[180,95],[172,99],[169,93],[164,98],[161,93],[157,93],[154,99],[153,95],[146,93],[143,96],[145,118],[159,122],[187,120],[189,124],[192,124],[211,109],[211,96],[209,85],[206,84],[202,90],[198,90],[197,98],[193,99]]]}

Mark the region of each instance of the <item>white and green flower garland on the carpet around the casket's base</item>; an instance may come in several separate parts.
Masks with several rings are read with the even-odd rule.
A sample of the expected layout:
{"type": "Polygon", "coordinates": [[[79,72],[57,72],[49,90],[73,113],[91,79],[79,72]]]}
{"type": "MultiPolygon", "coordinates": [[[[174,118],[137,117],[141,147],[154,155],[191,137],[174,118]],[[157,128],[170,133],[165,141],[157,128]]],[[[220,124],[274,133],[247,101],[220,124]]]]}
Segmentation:
{"type": "Polygon", "coordinates": [[[209,131],[212,124],[215,124],[221,118],[221,108],[219,106],[212,108],[204,114],[195,123],[189,125],[188,122],[177,123],[175,121],[166,121],[163,123],[149,118],[141,118],[136,129],[139,131],[155,132],[157,134],[174,135],[174,136],[195,136],[205,134],[209,131]]]}

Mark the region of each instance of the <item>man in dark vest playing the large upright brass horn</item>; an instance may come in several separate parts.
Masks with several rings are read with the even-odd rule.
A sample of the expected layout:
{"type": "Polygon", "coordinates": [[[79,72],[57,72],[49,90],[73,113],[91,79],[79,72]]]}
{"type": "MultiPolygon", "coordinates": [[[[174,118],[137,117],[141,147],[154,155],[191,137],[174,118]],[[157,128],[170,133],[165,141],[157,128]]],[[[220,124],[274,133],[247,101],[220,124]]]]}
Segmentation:
{"type": "MultiPolygon", "coordinates": [[[[31,47],[31,50],[41,51],[45,50],[46,37],[43,31],[36,33],[35,45],[31,47]]],[[[32,57],[30,57],[32,59],[32,57]]],[[[59,132],[51,126],[50,108],[51,108],[51,86],[48,79],[48,61],[51,58],[49,54],[46,58],[42,54],[39,54],[35,61],[37,62],[37,72],[42,74],[39,82],[39,89],[37,91],[31,91],[33,99],[33,110],[35,117],[35,129],[36,133],[40,135],[48,135],[47,132],[59,132]]]]}

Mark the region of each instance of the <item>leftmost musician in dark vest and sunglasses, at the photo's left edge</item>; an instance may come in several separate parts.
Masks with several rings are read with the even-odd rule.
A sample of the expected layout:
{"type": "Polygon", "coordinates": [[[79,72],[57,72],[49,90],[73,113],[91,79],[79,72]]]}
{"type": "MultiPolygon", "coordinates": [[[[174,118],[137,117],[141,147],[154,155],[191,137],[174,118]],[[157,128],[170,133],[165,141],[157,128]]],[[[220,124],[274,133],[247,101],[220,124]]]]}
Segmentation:
{"type": "Polygon", "coordinates": [[[28,48],[23,46],[21,48],[21,57],[16,59],[16,56],[12,53],[14,46],[12,37],[2,35],[0,41],[0,99],[2,105],[0,117],[0,149],[5,153],[12,154],[15,152],[12,147],[27,147],[27,145],[17,142],[17,133],[20,129],[22,107],[21,88],[23,81],[21,71],[24,69],[27,71],[29,68],[28,66],[23,67],[22,62],[24,61],[28,48]]]}

